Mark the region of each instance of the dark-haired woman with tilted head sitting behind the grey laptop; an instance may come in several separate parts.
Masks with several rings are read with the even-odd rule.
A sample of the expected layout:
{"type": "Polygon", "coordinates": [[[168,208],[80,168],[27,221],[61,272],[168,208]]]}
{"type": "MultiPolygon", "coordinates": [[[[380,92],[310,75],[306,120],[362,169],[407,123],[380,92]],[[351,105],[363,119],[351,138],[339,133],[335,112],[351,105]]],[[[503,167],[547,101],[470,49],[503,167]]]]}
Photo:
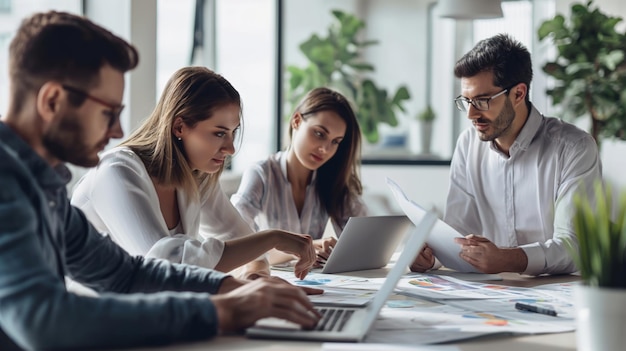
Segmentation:
{"type": "MultiPolygon", "coordinates": [[[[310,234],[321,261],[336,239],[322,238],[330,219],[340,234],[349,217],[365,216],[359,178],[361,130],[346,98],[311,90],[289,121],[291,145],[248,169],[232,203],[256,230],[310,234]]],[[[270,263],[293,256],[272,251],[270,263]]]]}

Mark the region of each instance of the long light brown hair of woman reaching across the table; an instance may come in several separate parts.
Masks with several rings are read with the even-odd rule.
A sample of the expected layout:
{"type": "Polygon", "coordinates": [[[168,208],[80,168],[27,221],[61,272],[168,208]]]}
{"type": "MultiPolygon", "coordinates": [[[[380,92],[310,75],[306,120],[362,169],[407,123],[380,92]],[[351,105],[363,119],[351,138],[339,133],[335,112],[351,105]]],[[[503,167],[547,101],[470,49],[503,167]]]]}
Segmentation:
{"type": "MultiPolygon", "coordinates": [[[[174,121],[180,117],[193,128],[211,118],[216,109],[231,104],[241,110],[239,93],[224,77],[206,67],[181,68],[165,85],[152,114],[120,145],[133,150],[159,184],[199,195],[198,190],[217,182],[224,166],[212,174],[194,171],[183,144],[174,136],[174,121]]],[[[243,128],[241,116],[240,120],[243,128]]]]}

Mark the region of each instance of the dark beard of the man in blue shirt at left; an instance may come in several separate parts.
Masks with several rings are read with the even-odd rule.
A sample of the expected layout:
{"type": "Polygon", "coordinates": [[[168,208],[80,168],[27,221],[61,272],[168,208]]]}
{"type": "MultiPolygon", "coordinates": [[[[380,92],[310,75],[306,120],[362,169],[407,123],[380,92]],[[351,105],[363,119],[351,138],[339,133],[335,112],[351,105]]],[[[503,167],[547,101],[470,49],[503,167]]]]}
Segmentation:
{"type": "Polygon", "coordinates": [[[48,152],[62,162],[80,167],[94,167],[100,159],[94,146],[83,140],[83,127],[75,113],[67,113],[54,122],[43,135],[43,145],[48,152]]]}

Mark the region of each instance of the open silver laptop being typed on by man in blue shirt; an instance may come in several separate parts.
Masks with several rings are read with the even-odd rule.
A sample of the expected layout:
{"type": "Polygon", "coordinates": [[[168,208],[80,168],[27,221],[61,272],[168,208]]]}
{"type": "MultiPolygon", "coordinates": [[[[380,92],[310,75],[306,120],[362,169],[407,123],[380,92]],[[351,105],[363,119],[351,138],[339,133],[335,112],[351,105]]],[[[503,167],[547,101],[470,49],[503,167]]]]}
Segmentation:
{"type": "MultiPolygon", "coordinates": [[[[317,310],[323,315],[317,326],[312,330],[281,328],[264,326],[263,320],[253,327],[246,329],[246,336],[262,339],[290,339],[290,340],[317,340],[317,341],[342,341],[359,342],[365,338],[380,310],[394,291],[398,281],[406,272],[407,267],[413,263],[418,252],[424,246],[437,216],[428,212],[417,227],[409,233],[408,240],[404,245],[398,261],[387,274],[385,282],[376,292],[369,304],[363,307],[329,307],[317,306],[317,310]]],[[[292,323],[293,325],[293,323],[292,323]]]]}

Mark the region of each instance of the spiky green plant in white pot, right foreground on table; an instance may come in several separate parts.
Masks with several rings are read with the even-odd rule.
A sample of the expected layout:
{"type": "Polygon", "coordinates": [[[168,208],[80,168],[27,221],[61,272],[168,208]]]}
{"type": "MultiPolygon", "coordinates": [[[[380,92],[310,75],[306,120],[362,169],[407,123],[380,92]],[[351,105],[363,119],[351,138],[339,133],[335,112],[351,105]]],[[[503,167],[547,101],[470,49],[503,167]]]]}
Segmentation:
{"type": "Polygon", "coordinates": [[[615,211],[613,205],[610,189],[600,183],[595,203],[582,193],[574,198],[578,245],[568,246],[583,283],[574,291],[581,351],[621,350],[626,344],[626,193],[615,211]]]}

